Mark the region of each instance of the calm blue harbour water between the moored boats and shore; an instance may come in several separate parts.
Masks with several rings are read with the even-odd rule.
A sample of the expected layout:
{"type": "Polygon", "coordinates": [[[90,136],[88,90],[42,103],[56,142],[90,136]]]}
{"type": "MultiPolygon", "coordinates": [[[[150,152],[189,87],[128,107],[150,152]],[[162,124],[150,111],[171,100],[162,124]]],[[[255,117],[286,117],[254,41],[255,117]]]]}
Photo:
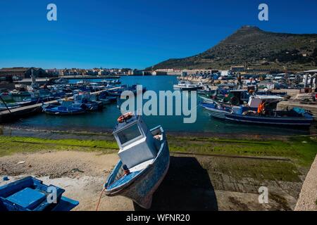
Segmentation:
{"type": "MultiPolygon", "coordinates": [[[[92,79],[97,82],[100,79],[92,79]]],[[[148,76],[148,77],[121,77],[122,84],[142,84],[147,90],[153,91],[173,91],[173,84],[176,84],[175,76],[148,76]]],[[[77,80],[70,81],[72,83],[77,80]]],[[[197,103],[199,99],[197,100],[197,103]]],[[[55,116],[40,113],[38,115],[23,118],[15,125],[23,127],[49,127],[51,129],[76,129],[76,130],[108,130],[113,129],[120,111],[116,104],[107,105],[104,110],[74,116],[55,116]]],[[[243,124],[235,124],[215,120],[208,115],[208,111],[197,107],[197,121],[194,124],[184,124],[182,116],[148,116],[144,117],[149,127],[159,124],[166,131],[184,132],[216,132],[216,133],[245,133],[245,134],[306,134],[308,131],[297,129],[280,129],[278,127],[257,127],[243,124]]]]}

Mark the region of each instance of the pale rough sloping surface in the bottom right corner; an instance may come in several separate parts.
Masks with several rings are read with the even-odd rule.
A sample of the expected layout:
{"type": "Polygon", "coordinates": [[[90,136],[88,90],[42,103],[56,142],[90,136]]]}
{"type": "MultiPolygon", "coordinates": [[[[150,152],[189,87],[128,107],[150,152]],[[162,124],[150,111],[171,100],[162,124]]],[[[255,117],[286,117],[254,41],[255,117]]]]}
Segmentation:
{"type": "Polygon", "coordinates": [[[306,176],[295,210],[317,211],[317,156],[306,176]]]}

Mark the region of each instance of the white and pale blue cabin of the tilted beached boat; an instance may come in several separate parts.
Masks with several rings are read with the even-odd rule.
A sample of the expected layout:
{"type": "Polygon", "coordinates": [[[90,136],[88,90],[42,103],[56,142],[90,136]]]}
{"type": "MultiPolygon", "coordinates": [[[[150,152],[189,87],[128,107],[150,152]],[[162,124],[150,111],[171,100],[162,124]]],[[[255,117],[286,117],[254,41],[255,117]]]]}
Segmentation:
{"type": "Polygon", "coordinates": [[[130,171],[132,167],[149,165],[149,162],[156,158],[155,141],[157,140],[154,139],[142,117],[133,115],[130,119],[118,123],[113,136],[120,148],[118,152],[120,160],[130,171]]]}

